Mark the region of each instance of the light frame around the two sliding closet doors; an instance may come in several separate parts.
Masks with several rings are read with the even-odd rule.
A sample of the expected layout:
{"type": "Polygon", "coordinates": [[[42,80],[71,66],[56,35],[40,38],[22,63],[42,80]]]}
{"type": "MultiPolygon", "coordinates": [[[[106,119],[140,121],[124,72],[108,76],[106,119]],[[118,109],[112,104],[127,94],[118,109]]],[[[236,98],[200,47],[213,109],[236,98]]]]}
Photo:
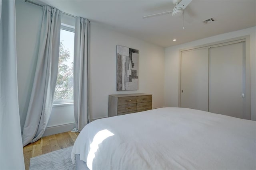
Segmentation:
{"type": "Polygon", "coordinates": [[[246,65],[246,70],[245,70],[245,75],[246,75],[246,80],[245,80],[245,100],[244,100],[244,113],[247,113],[246,115],[249,116],[244,116],[245,119],[250,120],[250,113],[251,113],[251,108],[250,108],[250,35],[245,35],[241,37],[236,37],[232,39],[226,39],[223,41],[216,41],[213,43],[207,43],[203,45],[198,45],[194,47],[188,47],[184,49],[179,50],[179,81],[178,81],[178,107],[180,107],[180,101],[181,101],[181,53],[182,51],[190,51],[190,50],[195,50],[195,49],[202,49],[202,48],[210,48],[210,47],[218,47],[222,45],[228,45],[228,44],[233,44],[233,43],[238,43],[238,42],[245,42],[245,65],[246,65]],[[248,102],[249,101],[249,102],[248,102]]]}

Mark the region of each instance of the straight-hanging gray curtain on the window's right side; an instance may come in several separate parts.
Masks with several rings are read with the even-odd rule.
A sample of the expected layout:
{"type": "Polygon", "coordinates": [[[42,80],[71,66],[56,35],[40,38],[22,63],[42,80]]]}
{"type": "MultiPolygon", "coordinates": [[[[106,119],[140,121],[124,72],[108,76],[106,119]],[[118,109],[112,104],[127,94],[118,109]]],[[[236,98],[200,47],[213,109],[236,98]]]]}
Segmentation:
{"type": "Polygon", "coordinates": [[[87,125],[88,114],[88,39],[89,21],[76,17],[74,42],[74,116],[79,132],[87,125]]]}

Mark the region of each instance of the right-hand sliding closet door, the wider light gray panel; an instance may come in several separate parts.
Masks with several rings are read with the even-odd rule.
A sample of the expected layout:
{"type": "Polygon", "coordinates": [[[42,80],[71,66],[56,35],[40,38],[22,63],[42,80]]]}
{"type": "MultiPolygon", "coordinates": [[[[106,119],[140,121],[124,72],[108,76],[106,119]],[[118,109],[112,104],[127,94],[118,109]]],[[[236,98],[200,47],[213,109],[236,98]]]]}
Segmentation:
{"type": "Polygon", "coordinates": [[[209,49],[210,112],[245,118],[243,117],[245,94],[244,43],[234,43],[209,49]]]}

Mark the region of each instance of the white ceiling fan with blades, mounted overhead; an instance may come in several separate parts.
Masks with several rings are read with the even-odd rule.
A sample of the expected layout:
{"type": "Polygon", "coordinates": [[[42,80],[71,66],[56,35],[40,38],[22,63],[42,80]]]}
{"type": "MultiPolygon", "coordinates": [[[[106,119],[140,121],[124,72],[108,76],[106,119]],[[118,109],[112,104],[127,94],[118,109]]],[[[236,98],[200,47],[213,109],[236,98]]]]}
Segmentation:
{"type": "Polygon", "coordinates": [[[152,14],[149,16],[144,16],[144,18],[150,18],[150,17],[155,17],[155,16],[162,16],[162,15],[167,15],[167,14],[172,14],[172,16],[181,16],[183,14],[183,10],[190,4],[192,0],[172,0],[172,3],[176,5],[173,10],[171,11],[166,11],[166,12],[161,12],[158,14],[152,14]]]}

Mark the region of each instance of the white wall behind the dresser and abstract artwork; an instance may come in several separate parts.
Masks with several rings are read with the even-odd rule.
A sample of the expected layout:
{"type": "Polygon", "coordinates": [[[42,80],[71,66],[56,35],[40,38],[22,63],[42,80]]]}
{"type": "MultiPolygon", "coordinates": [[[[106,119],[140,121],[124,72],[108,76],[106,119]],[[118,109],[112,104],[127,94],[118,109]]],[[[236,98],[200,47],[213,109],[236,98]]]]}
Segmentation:
{"type": "Polygon", "coordinates": [[[108,95],[148,93],[152,107],[164,106],[164,48],[90,23],[90,102],[91,119],[108,116],[108,95]],[[116,45],[139,50],[139,88],[116,91],[116,45]]]}

